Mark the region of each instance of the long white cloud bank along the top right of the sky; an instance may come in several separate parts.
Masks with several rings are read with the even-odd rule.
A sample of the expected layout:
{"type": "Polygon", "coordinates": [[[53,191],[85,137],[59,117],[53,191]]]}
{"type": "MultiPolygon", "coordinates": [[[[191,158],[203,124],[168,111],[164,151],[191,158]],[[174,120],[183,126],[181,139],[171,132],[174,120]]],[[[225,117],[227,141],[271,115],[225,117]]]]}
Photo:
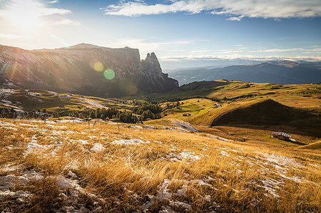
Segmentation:
{"type": "Polygon", "coordinates": [[[202,11],[215,15],[233,16],[227,20],[251,18],[305,18],[321,16],[320,0],[176,0],[163,4],[146,4],[145,1],[120,1],[103,8],[106,15],[141,16],[202,11]]]}

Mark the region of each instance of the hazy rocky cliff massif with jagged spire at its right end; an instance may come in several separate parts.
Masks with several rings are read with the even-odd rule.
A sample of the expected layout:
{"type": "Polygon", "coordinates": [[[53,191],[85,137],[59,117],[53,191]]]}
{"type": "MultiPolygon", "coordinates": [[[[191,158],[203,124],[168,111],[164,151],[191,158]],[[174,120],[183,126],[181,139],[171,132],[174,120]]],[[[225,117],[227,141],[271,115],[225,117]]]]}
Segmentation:
{"type": "Polygon", "coordinates": [[[155,53],[141,61],[138,49],[81,43],[26,51],[0,46],[0,86],[37,88],[101,97],[162,93],[178,81],[162,73],[155,53]],[[107,70],[107,71],[106,71],[107,70]]]}

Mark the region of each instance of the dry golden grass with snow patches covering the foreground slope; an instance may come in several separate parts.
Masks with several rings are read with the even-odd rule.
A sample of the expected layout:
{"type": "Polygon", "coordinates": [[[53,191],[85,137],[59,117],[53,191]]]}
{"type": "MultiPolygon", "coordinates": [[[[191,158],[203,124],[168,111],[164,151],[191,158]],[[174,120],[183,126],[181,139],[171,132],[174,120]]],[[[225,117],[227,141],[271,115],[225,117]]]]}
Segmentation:
{"type": "Polygon", "coordinates": [[[1,211],[321,210],[320,161],[291,147],[128,126],[0,120],[1,211]]]}

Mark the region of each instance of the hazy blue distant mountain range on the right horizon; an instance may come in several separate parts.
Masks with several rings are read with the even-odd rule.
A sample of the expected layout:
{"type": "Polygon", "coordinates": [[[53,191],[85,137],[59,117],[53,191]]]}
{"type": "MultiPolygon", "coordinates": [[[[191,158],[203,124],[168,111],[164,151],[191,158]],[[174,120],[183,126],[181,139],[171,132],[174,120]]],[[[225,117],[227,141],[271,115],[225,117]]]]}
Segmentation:
{"type": "Polygon", "coordinates": [[[268,61],[224,68],[192,68],[170,72],[180,85],[200,80],[242,80],[254,83],[320,83],[321,63],[268,61]]]}

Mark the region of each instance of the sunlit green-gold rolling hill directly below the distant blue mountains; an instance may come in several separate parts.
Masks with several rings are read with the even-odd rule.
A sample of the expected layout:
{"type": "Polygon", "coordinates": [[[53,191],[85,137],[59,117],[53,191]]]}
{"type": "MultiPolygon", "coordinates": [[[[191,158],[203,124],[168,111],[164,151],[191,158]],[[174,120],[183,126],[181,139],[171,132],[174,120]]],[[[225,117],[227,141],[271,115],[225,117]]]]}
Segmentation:
{"type": "Polygon", "coordinates": [[[275,83],[245,83],[241,81],[200,81],[182,85],[170,93],[151,94],[153,100],[180,100],[194,97],[216,98],[222,102],[235,102],[270,98],[284,105],[299,108],[319,108],[321,85],[282,85],[275,83]]]}

